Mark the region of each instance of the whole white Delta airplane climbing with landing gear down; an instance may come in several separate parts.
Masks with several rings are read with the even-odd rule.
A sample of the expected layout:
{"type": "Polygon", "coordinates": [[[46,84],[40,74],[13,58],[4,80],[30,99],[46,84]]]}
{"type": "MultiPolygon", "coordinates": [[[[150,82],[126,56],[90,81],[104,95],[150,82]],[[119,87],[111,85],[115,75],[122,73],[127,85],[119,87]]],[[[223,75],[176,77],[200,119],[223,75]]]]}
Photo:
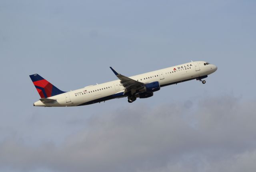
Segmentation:
{"type": "Polygon", "coordinates": [[[128,102],[132,103],[137,98],[153,96],[154,92],[164,86],[194,79],[205,84],[206,81],[202,79],[215,72],[217,66],[204,61],[191,61],[131,77],[116,72],[112,67],[110,69],[118,80],[90,85],[70,92],[59,90],[39,74],[32,74],[30,78],[41,97],[33,105],[44,107],[83,106],[123,97],[128,97],[128,102]]]}

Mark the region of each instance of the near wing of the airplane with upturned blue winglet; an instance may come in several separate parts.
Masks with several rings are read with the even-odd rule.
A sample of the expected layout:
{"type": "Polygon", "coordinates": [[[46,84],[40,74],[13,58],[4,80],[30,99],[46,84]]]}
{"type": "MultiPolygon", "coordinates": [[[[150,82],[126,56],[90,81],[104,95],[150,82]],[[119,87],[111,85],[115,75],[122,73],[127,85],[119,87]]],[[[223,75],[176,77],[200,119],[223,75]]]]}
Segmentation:
{"type": "Polygon", "coordinates": [[[127,76],[121,75],[117,73],[112,67],[110,67],[110,69],[121,80],[120,83],[122,84],[122,86],[126,88],[124,94],[126,94],[127,92],[132,92],[133,94],[136,92],[136,90],[140,90],[144,87],[144,83],[133,80],[132,78],[128,78],[127,76]]]}

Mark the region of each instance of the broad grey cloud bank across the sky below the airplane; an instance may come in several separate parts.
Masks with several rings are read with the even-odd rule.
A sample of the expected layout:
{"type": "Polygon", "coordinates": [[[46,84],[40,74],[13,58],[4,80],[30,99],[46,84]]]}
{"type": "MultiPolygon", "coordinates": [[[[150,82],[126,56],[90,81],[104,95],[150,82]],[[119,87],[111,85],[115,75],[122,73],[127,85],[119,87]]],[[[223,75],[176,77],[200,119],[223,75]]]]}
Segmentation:
{"type": "MultiPolygon", "coordinates": [[[[0,143],[0,167],[90,172],[255,171],[255,102],[130,106],[90,118],[60,146],[0,143]]],[[[1,168],[0,168],[1,169],[1,168]]]]}

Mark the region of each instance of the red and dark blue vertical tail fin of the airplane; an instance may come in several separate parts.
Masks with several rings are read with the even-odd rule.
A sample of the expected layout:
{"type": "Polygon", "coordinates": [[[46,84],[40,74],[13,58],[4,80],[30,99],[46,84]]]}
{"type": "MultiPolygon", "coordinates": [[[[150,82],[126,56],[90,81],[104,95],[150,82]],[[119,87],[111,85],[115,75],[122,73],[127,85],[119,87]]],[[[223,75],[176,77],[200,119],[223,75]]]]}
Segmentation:
{"type": "Polygon", "coordinates": [[[30,75],[30,78],[41,98],[48,98],[64,93],[64,91],[59,90],[56,86],[52,85],[38,74],[30,75]]]}

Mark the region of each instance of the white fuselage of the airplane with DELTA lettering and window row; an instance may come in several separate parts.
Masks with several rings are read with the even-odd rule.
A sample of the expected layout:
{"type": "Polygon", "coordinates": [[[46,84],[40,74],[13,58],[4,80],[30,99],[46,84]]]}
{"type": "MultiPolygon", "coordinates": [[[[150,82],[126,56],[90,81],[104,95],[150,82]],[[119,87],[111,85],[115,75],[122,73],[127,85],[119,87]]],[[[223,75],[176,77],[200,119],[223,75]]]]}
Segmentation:
{"type": "MultiPolygon", "coordinates": [[[[204,61],[189,62],[129,78],[143,83],[158,81],[162,87],[207,76],[217,70],[215,65],[204,65],[205,63],[204,61]]],[[[120,84],[120,80],[114,80],[49,97],[56,100],[54,103],[42,103],[39,100],[34,103],[34,106],[63,107],[93,104],[113,98],[125,97],[126,95],[123,95],[125,89],[120,84]]]]}

